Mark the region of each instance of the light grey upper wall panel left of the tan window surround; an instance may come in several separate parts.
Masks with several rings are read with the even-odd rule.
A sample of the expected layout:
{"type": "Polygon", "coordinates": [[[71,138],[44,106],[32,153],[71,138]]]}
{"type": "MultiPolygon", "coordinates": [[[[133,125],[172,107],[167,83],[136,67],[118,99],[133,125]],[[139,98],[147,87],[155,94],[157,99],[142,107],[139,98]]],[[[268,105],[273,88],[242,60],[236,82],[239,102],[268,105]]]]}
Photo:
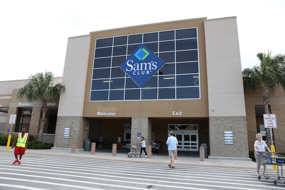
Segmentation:
{"type": "Polygon", "coordinates": [[[90,36],[69,38],[66,49],[58,116],[81,116],[85,92],[90,36]]]}

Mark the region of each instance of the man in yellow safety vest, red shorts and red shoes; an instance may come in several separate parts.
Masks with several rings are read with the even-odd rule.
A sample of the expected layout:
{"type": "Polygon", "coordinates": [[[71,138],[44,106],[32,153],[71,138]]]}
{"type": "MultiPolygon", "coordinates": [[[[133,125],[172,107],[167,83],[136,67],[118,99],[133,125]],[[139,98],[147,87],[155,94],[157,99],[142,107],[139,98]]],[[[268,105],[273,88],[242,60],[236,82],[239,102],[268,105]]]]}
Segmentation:
{"type": "Polygon", "coordinates": [[[27,150],[28,139],[29,139],[29,135],[28,133],[26,133],[26,128],[23,128],[22,132],[16,136],[12,144],[12,148],[14,148],[14,144],[17,141],[15,150],[14,150],[15,161],[13,162],[13,164],[16,164],[17,162],[18,164],[21,164],[22,156],[23,154],[25,154],[25,150],[27,150]],[[20,155],[20,160],[18,160],[18,155],[20,155]]]}

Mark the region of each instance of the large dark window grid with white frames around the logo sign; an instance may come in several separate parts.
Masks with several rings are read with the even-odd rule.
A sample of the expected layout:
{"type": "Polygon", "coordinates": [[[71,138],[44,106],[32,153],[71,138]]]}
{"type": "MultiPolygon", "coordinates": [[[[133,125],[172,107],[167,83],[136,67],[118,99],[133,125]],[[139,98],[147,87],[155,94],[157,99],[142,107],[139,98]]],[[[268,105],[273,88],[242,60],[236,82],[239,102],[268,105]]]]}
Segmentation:
{"type": "MultiPolygon", "coordinates": [[[[197,28],[184,28],[184,29],[179,29],[179,30],[168,30],[168,31],[159,31],[159,32],[149,32],[149,33],[143,33],[143,34],[132,34],[132,35],[127,35],[127,36],[117,36],[117,37],[111,37],[111,38],[101,38],[96,40],[96,45],[95,45],[95,52],[94,52],[94,62],[93,62],[93,74],[92,74],[92,83],[91,83],[91,92],[90,92],[90,101],[121,101],[121,100],[165,100],[165,99],[200,99],[200,68],[199,68],[199,52],[198,52],[198,32],[197,28]],[[192,38],[178,38],[176,39],[176,33],[177,31],[181,30],[187,30],[187,29],[195,29],[196,30],[196,37],[192,38]],[[170,40],[160,40],[160,33],[161,32],[173,32],[174,33],[174,39],[170,40]],[[157,33],[157,40],[153,41],[150,40],[149,42],[145,42],[144,36],[147,35],[153,35],[157,33]],[[138,43],[131,43],[129,36],[141,36],[141,41],[138,43]],[[116,45],[114,44],[116,38],[126,38],[126,43],[116,45]],[[102,46],[100,43],[98,43],[98,40],[105,40],[108,39],[112,43],[110,46],[102,46]],[[185,43],[186,42],[186,43],[185,43]],[[190,48],[185,48],[186,46],[192,46],[190,48]],[[133,51],[141,44],[143,43],[146,45],[152,52],[154,52],[158,57],[161,56],[163,57],[163,54],[165,53],[172,53],[174,54],[174,60],[166,59],[164,60],[166,63],[165,65],[160,68],[158,72],[156,72],[146,84],[140,88],[138,85],[135,84],[135,82],[119,67],[119,65],[128,57],[130,54],[133,53],[133,51]],[[169,43],[172,44],[171,46],[174,45],[174,50],[167,51],[167,45],[163,43],[169,43]],[[183,44],[184,43],[184,44],[183,44]],[[187,44],[188,43],[188,44],[187,44]],[[97,46],[99,44],[99,46],[97,46]],[[153,46],[154,44],[154,46],[153,46]],[[101,47],[100,47],[101,46],[101,47]],[[166,48],[165,48],[166,46],[166,48]],[[177,47],[179,46],[179,47],[177,47]],[[156,50],[157,47],[157,50],[156,50]],[[161,48],[160,48],[161,47],[161,48]],[[183,48],[184,47],[184,48],[183,48]],[[105,49],[104,49],[105,48],[105,49]],[[121,48],[121,49],[120,49],[121,48]],[[103,51],[100,51],[103,50],[103,51]],[[123,50],[122,50],[123,49],[123,50]],[[130,50],[131,49],[131,50],[130,50]],[[161,49],[161,51],[160,51],[161,49]],[[177,50],[179,49],[179,50],[177,50]],[[109,52],[106,53],[104,50],[107,50],[109,52]],[[111,50],[111,51],[110,51],[111,50]],[[97,52],[99,53],[97,53],[97,52]],[[187,52],[186,52],[187,51],[187,52]],[[196,52],[194,52],[196,51],[196,52]],[[103,56],[100,55],[100,52],[103,56]],[[125,53],[123,53],[125,52],[125,53]],[[181,52],[181,53],[180,53],[181,52]],[[178,56],[177,59],[177,54],[188,54],[192,52],[192,54],[197,55],[197,59],[193,61],[182,61],[181,57],[183,56],[178,56]],[[105,53],[105,54],[104,54],[105,53]],[[110,56],[105,56],[105,55],[110,55],[110,56]],[[107,65],[101,64],[102,62],[98,63],[99,61],[106,60],[107,65]],[[111,60],[110,60],[111,59],[111,60]],[[180,60],[179,60],[180,59],[180,60]],[[119,60],[120,62],[115,60],[119,60]],[[170,60],[168,62],[168,60],[170,60]],[[114,61],[114,63],[113,63],[114,61]],[[119,64],[118,64],[119,63],[119,64]],[[101,66],[103,65],[103,66],[101,66]],[[184,65],[184,66],[183,66],[184,65]],[[192,65],[192,72],[188,71],[187,73],[184,73],[185,70],[183,67],[191,67],[192,65]],[[101,67],[100,67],[101,66],[101,67]],[[167,67],[173,69],[174,66],[174,71],[167,71],[166,74],[161,73],[162,70],[164,70],[167,67]],[[179,67],[181,67],[179,69],[179,67]],[[194,68],[194,69],[193,69],[194,68]],[[116,71],[117,70],[117,71],[116,71]],[[104,75],[105,72],[105,75],[104,75]],[[117,72],[117,73],[116,73],[117,72]],[[172,73],[168,73],[172,72],[172,73]],[[180,73],[182,72],[182,73],[180,73]],[[100,73],[100,74],[98,74],[100,73]],[[114,74],[115,73],[115,74],[114,74]],[[109,75],[107,75],[109,74],[109,75]],[[103,75],[103,76],[100,76],[103,75]],[[115,77],[114,77],[115,75],[115,77]],[[192,84],[179,84],[181,81],[187,79],[187,77],[194,79],[192,81],[192,84]],[[168,80],[173,80],[174,83],[171,85],[171,82],[168,85],[162,85],[162,81],[165,79],[168,80]],[[181,78],[178,80],[178,78],[181,78]],[[106,83],[106,85],[96,85],[98,81],[101,81],[103,83],[106,83]],[[179,82],[180,81],[180,82],[179,82]],[[152,85],[149,85],[149,83],[153,83],[152,85]],[[116,84],[117,85],[113,85],[116,84]],[[128,84],[127,84],[128,83],[128,84]],[[133,83],[129,85],[129,83],[133,83]],[[156,83],[156,86],[155,86],[156,83]],[[108,85],[107,85],[108,84],[108,85]],[[127,84],[127,86],[126,86],[127,84]],[[131,87],[129,87],[131,86],[131,87]],[[153,95],[148,95],[147,91],[154,92],[155,93],[156,89],[156,96],[153,95]],[[189,89],[190,91],[194,91],[194,97],[190,97],[185,91],[187,92],[186,89],[189,89]],[[102,91],[102,92],[99,92],[102,91]],[[132,93],[131,93],[132,91],[132,93]],[[173,93],[174,91],[174,93],[173,93]],[[96,95],[92,94],[96,92],[95,94],[99,94],[98,97],[96,95]],[[172,96],[167,96],[168,92],[172,92],[172,96]],[[178,93],[179,92],[179,93],[178,93]],[[130,93],[130,94],[128,94],[130,93]],[[101,95],[100,95],[101,94],[101,95]],[[142,97],[143,94],[143,97],[142,97]]],[[[100,82],[99,82],[100,83],[100,82]]],[[[183,83],[183,82],[182,82],[183,83]]],[[[184,81],[185,83],[185,81],[184,81]]]]}

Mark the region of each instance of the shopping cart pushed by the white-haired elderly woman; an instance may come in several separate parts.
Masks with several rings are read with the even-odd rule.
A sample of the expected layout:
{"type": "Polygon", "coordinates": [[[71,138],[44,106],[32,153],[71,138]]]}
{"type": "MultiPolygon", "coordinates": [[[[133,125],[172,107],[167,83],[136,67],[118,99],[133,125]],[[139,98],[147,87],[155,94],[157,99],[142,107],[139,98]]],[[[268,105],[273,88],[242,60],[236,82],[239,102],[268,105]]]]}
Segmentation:
{"type": "Polygon", "coordinates": [[[274,185],[276,185],[276,181],[283,181],[285,184],[285,178],[282,171],[282,166],[285,166],[285,157],[283,155],[276,154],[276,152],[255,152],[255,156],[257,164],[263,165],[262,175],[259,174],[260,167],[258,167],[258,179],[260,179],[260,176],[262,176],[273,180],[274,185]],[[264,165],[276,165],[277,175],[265,175],[264,165]],[[279,166],[281,167],[281,175],[279,175],[279,166]]]}

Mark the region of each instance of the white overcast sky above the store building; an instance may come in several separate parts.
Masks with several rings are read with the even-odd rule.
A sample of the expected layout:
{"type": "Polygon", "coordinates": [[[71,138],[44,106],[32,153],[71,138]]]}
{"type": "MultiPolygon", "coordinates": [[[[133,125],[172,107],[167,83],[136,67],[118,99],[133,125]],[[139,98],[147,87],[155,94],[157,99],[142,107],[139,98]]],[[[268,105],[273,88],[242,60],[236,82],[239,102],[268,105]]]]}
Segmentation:
{"type": "Polygon", "coordinates": [[[68,37],[182,19],[237,16],[242,69],[285,54],[285,1],[1,1],[0,81],[63,74],[68,37]]]}

